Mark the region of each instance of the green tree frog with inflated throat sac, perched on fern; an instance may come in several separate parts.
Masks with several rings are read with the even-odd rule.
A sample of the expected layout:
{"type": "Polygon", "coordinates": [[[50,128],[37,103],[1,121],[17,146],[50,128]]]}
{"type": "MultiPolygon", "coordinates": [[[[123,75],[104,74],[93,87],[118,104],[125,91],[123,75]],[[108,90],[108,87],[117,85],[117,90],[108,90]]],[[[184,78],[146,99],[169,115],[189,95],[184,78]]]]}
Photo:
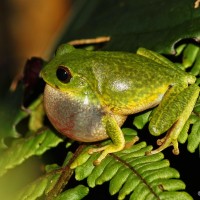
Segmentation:
{"type": "Polygon", "coordinates": [[[199,96],[195,77],[158,53],[139,48],[127,52],[87,51],[61,45],[41,76],[47,83],[44,107],[53,126],[63,135],[82,142],[110,138],[112,144],[90,149],[107,154],[125,147],[120,129],[127,116],[157,106],[149,131],[159,136],[154,154],[173,145],[199,96]]]}

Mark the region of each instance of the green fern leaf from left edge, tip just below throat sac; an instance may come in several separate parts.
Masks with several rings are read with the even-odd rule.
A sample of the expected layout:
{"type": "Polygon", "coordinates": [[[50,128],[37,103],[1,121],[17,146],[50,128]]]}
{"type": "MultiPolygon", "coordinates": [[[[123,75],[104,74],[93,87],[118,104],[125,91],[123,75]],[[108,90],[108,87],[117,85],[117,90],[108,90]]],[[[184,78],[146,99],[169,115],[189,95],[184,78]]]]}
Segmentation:
{"type": "Polygon", "coordinates": [[[8,149],[0,153],[0,176],[30,156],[41,155],[61,141],[62,139],[49,129],[28,138],[16,139],[8,149]]]}

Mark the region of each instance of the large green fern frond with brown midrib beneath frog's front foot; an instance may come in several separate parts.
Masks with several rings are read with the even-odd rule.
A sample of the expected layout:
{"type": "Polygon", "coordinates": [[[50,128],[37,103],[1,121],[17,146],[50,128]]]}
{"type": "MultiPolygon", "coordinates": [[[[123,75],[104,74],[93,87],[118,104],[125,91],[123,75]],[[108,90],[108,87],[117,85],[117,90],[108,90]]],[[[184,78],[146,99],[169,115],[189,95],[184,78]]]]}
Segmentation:
{"type": "Polygon", "coordinates": [[[111,195],[118,193],[122,200],[130,199],[192,199],[184,191],[185,184],[179,180],[179,173],[169,167],[169,161],[162,153],[145,155],[151,146],[145,142],[133,145],[130,149],[110,154],[100,165],[94,166],[97,154],[75,169],[76,179],[87,178],[88,185],[95,187],[110,181],[111,195]],[[172,198],[173,195],[173,198],[172,198]]]}

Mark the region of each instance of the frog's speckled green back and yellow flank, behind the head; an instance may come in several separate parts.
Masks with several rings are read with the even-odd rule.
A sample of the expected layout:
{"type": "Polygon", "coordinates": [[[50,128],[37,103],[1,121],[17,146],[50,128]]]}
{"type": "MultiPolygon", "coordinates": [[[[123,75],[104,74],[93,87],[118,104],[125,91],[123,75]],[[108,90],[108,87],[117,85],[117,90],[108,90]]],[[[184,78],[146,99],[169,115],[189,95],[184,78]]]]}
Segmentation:
{"type": "Polygon", "coordinates": [[[124,113],[135,113],[153,107],[171,85],[187,82],[186,79],[192,77],[182,70],[173,70],[131,53],[109,56],[102,53],[101,56],[94,56],[93,62],[96,90],[115,112],[124,110],[124,113]]]}

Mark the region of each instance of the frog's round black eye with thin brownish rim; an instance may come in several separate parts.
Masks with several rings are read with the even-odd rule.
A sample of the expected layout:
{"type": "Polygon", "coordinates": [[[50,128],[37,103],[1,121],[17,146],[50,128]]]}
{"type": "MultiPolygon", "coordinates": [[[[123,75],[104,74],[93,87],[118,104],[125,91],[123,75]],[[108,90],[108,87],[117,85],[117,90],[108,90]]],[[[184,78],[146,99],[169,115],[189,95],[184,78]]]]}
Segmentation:
{"type": "Polygon", "coordinates": [[[72,75],[68,68],[59,66],[56,71],[56,77],[58,78],[59,81],[63,83],[68,83],[72,78],[72,75]]]}

